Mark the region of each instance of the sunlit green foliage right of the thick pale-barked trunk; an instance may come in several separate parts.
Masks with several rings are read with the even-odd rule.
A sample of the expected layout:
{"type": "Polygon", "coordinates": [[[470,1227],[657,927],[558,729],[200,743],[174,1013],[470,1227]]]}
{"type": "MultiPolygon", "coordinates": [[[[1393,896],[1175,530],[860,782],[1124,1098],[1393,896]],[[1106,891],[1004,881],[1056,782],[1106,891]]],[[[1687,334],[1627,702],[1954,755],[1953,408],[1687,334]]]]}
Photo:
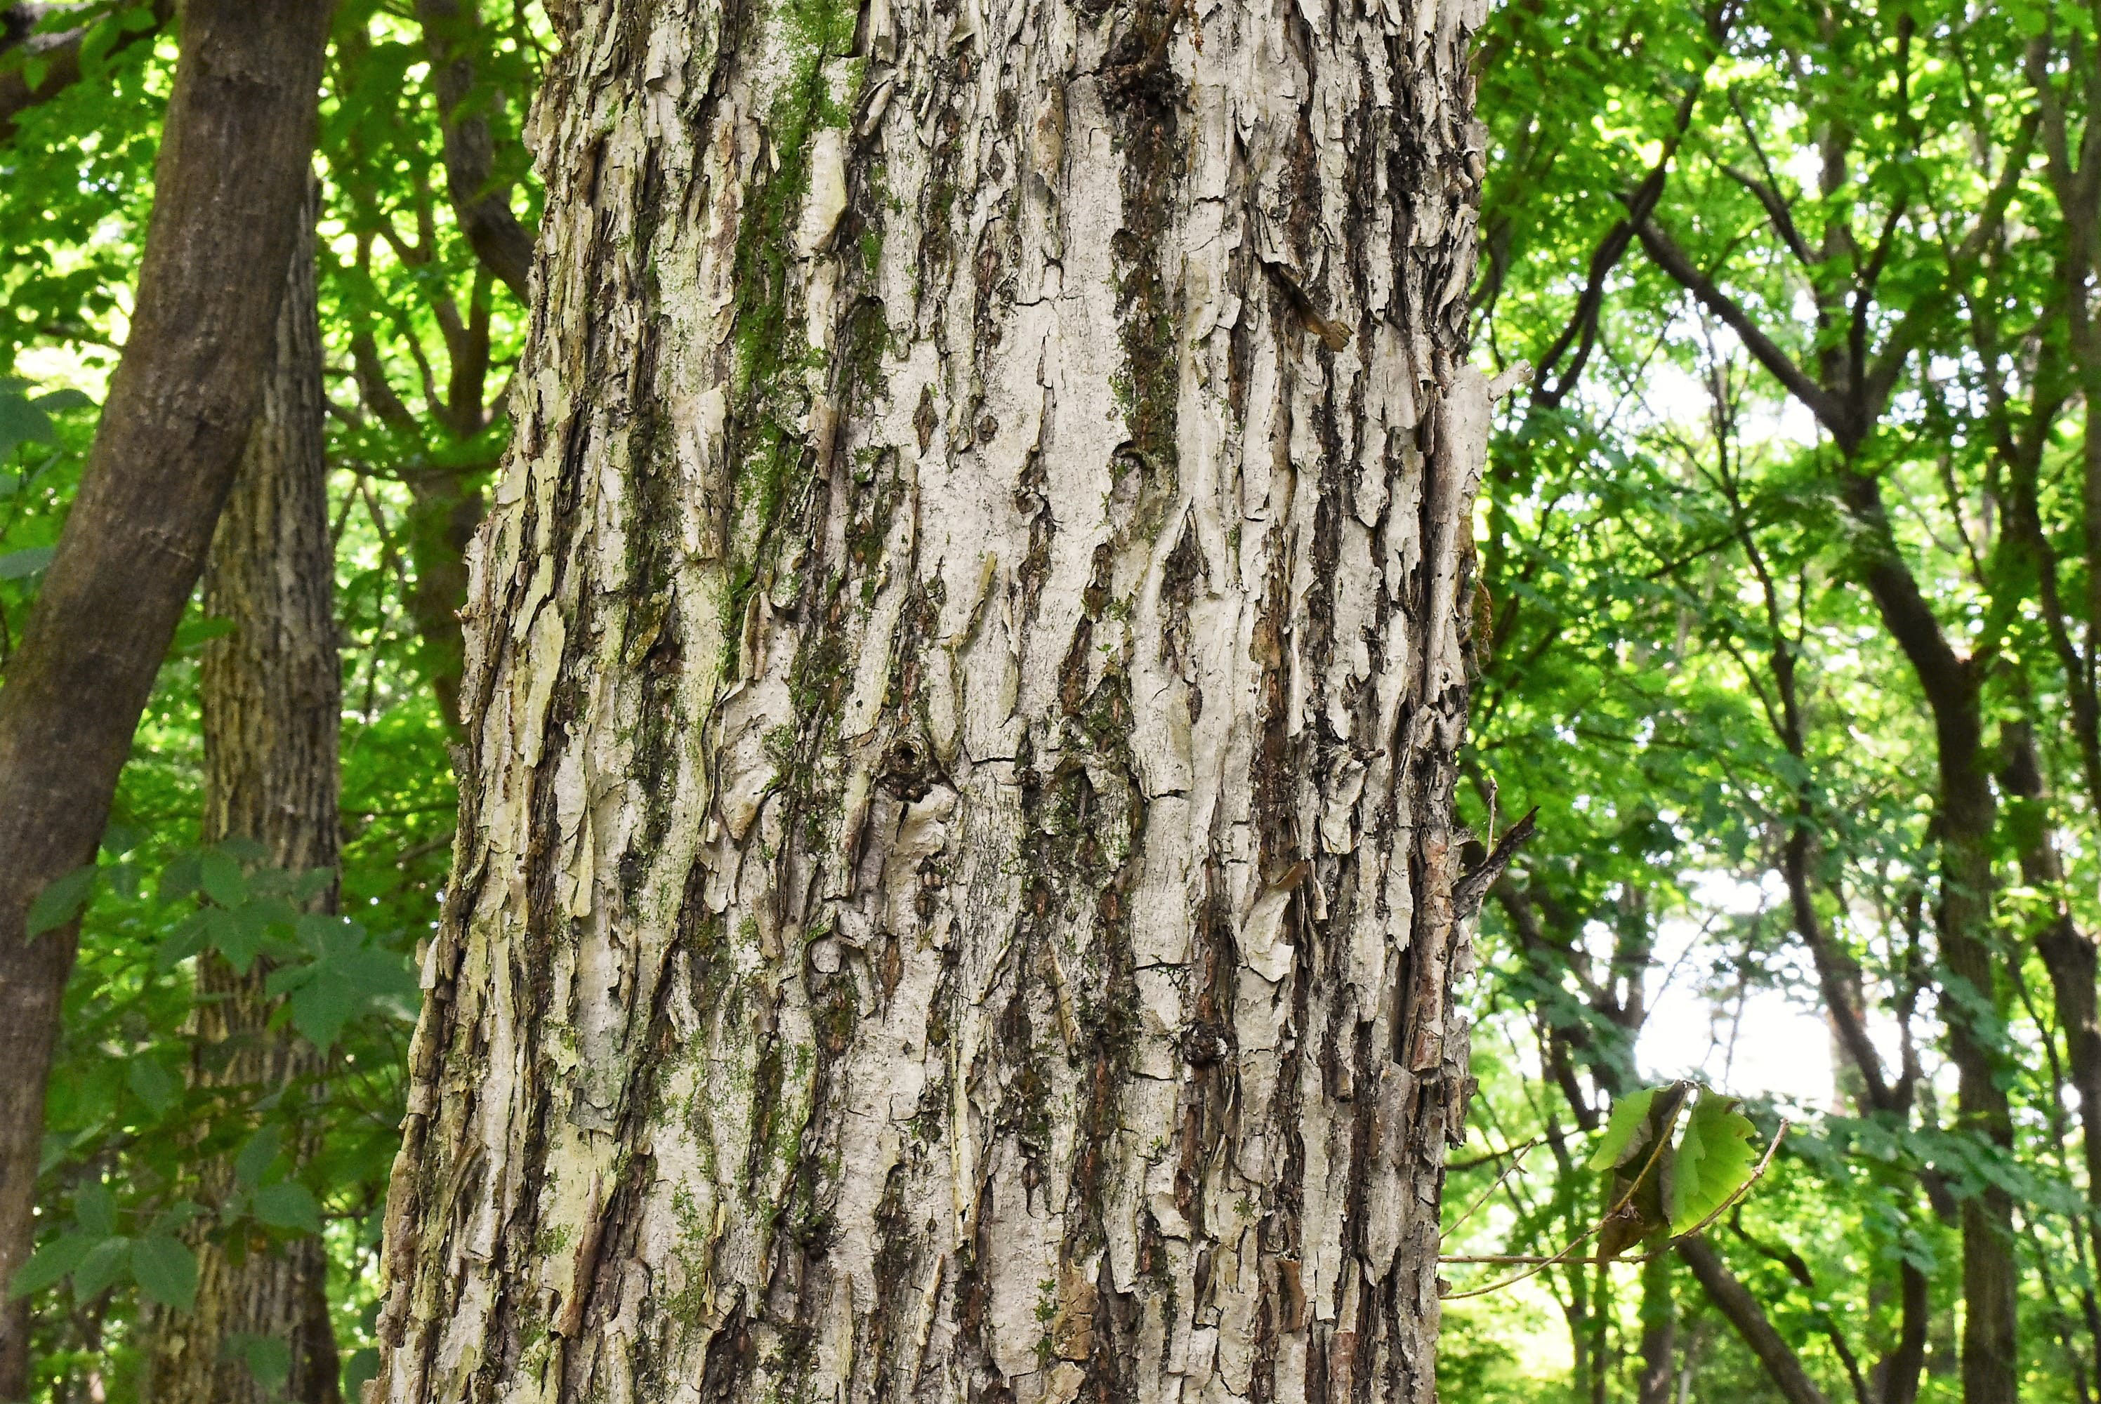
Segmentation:
{"type": "MultiPolygon", "coordinates": [[[[1721,1209],[1704,1238],[1832,1398],[1901,1366],[1908,1330],[1931,1341],[1920,1398],[1956,1398],[1958,1223],[1988,1192],[2015,1204],[2023,1393],[2084,1398],[2095,1349],[2082,1118],[2042,956],[2059,921],[2101,929],[2082,757],[2101,639],[2082,395],[2101,343],[2078,324],[2097,187],[2061,179],[2090,160],[2090,13],[2059,4],[1645,0],[1496,6],[1481,40],[1477,345],[1542,372],[1504,406],[1477,525],[1492,649],[1466,799],[1477,826],[1492,792],[1502,815],[1538,803],[1540,837],[1483,912],[1483,1095],[1452,1198],[1485,1192],[1498,1152],[1544,1150],[1460,1244],[1544,1255],[1597,1225],[1626,1190],[1601,1171],[1653,1150],[1641,1089],[1744,1093],[1744,1064],[1769,1078],[1828,1053],[1822,1089],[1702,1093],[1658,1215],[1685,1232],[1721,1209]],[[1637,193],[1710,280],[1704,301],[1622,223],[1637,193]],[[1887,370],[1857,446],[1775,353],[1834,393],[1887,370]],[[1874,481],[1887,534],[1849,475],[1874,481]],[[1975,767],[2000,818],[1981,984],[1941,963],[1946,897],[1979,895],[1941,853],[1941,744],[1962,727],[1935,723],[1870,589],[1893,563],[1975,660],[1975,767]],[[2023,727],[2040,797],[2006,771],[2023,727]],[[1826,1032],[1834,998],[1859,1011],[1880,1091],[1826,1032]],[[1786,1009],[1815,1021],[1775,1036],[1786,1009]],[[1962,1108],[1956,1026],[1990,1051],[2002,1137],[1962,1108]],[[1782,1116],[1796,1131],[1731,1206],[1782,1116]],[[1576,1133],[1597,1135],[1584,1154],[1576,1133]]],[[[1559,1349],[1544,1381],[1492,1383],[1511,1398],[1653,1398],[1658,1322],[1691,1393],[1773,1391],[1668,1257],[1639,1276],[1555,1265],[1509,1297],[1527,1305],[1454,1303],[1445,1322],[1466,1351],[1559,1349]]]]}

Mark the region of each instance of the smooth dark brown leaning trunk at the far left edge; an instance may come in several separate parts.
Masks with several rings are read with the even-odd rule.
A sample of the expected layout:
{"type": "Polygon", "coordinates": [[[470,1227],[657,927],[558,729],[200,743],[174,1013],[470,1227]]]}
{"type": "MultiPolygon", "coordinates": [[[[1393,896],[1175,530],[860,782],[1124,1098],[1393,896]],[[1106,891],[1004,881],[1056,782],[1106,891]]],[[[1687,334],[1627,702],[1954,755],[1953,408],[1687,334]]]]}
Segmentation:
{"type": "MultiPolygon", "coordinates": [[[[313,158],[326,0],[189,0],[124,359],[0,687],[0,1282],[32,1248],[44,1078],[78,927],[29,902],[90,862],[271,364],[313,158]]],[[[0,1400],[27,1387],[0,1309],[0,1400]]]]}

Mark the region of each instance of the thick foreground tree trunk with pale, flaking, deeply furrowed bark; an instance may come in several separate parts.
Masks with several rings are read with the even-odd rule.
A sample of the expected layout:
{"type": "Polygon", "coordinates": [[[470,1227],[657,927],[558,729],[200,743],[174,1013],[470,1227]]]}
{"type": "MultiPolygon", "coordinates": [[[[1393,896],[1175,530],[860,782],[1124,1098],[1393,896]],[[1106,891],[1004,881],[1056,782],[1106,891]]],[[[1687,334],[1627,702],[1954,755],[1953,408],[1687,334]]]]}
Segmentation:
{"type": "Polygon", "coordinates": [[[557,13],[374,1393],[1431,1400],[1475,0],[557,13]]]}

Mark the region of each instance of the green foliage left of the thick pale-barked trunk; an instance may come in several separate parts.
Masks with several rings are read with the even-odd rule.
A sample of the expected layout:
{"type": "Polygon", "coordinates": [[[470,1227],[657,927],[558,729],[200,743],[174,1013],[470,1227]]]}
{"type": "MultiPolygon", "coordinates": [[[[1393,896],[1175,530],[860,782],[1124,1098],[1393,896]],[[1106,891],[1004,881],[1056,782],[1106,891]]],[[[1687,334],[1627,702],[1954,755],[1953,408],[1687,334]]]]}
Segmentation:
{"type": "MultiPolygon", "coordinates": [[[[38,940],[80,918],[80,963],[50,1080],[32,1299],[38,1398],[139,1398],[151,1309],[187,1309],[193,1244],[277,1253],[319,1240],[345,1396],[374,1372],[376,1253],[416,1013],[456,811],[424,637],[429,582],[456,565],[508,439],[500,406],[523,336],[445,204],[424,34],[405,6],[336,19],[317,172],[328,357],[330,525],[345,664],[338,874],[273,872],[240,841],[200,847],[197,662],[225,620],[191,610],[141,719],[103,853],[53,883],[38,940]],[[340,883],[340,916],[311,900],[340,883]],[[265,971],[279,1028],[315,1051],[290,1087],[229,1085],[197,1034],[197,971],[265,971]],[[204,1166],[231,1166],[231,1181],[204,1166]]],[[[59,6],[90,25],[84,78],[0,137],[0,666],[53,559],[128,332],[179,19],[143,4],[59,6]],[[124,42],[124,36],[141,36],[124,42]]],[[[548,36],[492,0],[466,32],[471,109],[527,229],[538,187],[517,126],[548,36]]],[[[0,42],[0,67],[23,53],[0,42]]],[[[456,666],[456,645],[454,660],[456,666]]],[[[284,1341],[227,1341],[267,1389],[284,1341]]]]}

